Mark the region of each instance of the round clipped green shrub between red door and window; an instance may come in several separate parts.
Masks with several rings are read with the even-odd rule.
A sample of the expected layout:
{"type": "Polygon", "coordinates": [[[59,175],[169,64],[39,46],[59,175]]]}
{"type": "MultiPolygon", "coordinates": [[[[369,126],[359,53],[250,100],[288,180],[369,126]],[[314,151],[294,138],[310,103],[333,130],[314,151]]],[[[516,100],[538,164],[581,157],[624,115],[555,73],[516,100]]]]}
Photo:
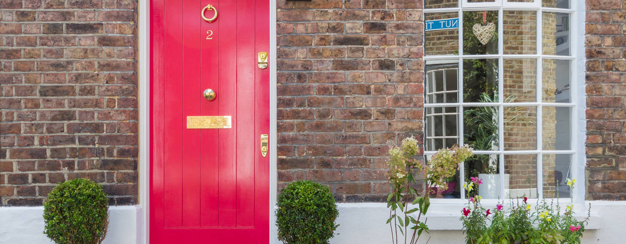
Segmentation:
{"type": "Polygon", "coordinates": [[[289,244],[327,243],[339,216],[328,187],[309,180],[289,184],[278,196],[278,238],[289,244]]]}

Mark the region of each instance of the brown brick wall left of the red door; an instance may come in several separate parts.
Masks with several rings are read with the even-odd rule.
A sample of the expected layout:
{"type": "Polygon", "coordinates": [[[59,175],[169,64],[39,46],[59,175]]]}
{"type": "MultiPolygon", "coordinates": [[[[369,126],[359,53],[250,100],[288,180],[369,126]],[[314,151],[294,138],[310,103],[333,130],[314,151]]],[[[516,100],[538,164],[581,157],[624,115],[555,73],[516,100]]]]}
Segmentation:
{"type": "Polygon", "coordinates": [[[0,205],[84,177],[136,202],[136,0],[0,1],[0,205]]]}

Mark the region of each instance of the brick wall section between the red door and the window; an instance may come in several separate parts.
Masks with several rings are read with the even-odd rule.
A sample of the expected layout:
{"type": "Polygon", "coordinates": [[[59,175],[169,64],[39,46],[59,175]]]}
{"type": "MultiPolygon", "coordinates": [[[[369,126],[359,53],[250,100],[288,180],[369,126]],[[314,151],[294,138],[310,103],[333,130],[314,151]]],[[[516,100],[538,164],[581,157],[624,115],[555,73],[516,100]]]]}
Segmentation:
{"type": "Polygon", "coordinates": [[[386,200],[387,140],[423,130],[418,0],[278,0],[278,181],[386,200]]]}

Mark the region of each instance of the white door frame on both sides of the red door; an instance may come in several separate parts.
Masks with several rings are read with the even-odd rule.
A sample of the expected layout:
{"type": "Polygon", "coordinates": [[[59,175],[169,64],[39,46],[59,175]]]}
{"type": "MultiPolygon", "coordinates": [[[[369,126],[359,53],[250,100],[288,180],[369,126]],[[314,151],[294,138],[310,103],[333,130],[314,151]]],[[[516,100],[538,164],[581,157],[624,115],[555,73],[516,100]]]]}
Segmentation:
{"type": "MultiPolygon", "coordinates": [[[[270,240],[274,243],[277,230],[274,216],[276,203],[276,0],[269,0],[270,4],[270,240]]],[[[141,216],[137,217],[137,236],[141,237],[141,243],[148,244],[150,224],[150,1],[139,1],[138,5],[138,78],[139,78],[139,196],[138,204],[141,207],[141,216]]]]}

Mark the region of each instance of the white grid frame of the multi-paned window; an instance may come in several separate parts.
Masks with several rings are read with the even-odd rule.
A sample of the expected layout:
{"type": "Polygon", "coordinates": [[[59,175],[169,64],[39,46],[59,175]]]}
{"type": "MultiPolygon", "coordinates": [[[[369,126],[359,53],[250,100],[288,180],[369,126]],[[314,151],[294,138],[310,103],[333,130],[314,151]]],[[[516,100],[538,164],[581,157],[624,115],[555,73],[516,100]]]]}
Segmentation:
{"type": "MultiPolygon", "coordinates": [[[[585,95],[584,95],[584,74],[585,74],[585,66],[584,66],[584,57],[580,57],[584,54],[584,19],[585,19],[585,2],[582,0],[570,0],[570,8],[569,9],[560,9],[553,7],[542,7],[540,0],[535,0],[535,2],[501,2],[501,0],[496,0],[496,2],[468,2],[468,0],[459,1],[459,5],[462,7],[449,7],[449,8],[440,8],[440,9],[424,9],[424,14],[436,13],[436,12],[458,12],[459,18],[459,50],[458,55],[436,55],[436,56],[424,56],[424,64],[428,61],[458,61],[459,70],[463,67],[464,59],[484,59],[484,58],[493,58],[498,59],[498,96],[499,101],[497,103],[493,103],[494,107],[499,107],[498,113],[498,122],[499,128],[503,128],[503,108],[506,107],[519,107],[519,106],[534,106],[536,107],[536,116],[537,116],[537,146],[536,150],[505,150],[502,147],[498,147],[498,150],[490,150],[490,151],[475,151],[475,154],[495,154],[499,155],[499,175],[500,182],[504,182],[505,178],[505,160],[504,155],[508,154],[535,154],[537,158],[537,194],[539,199],[551,199],[551,198],[543,198],[543,155],[544,154],[569,154],[571,155],[570,160],[570,175],[572,178],[577,179],[577,186],[575,190],[572,192],[573,201],[577,204],[582,204],[585,200],[585,95]],[[464,11],[498,11],[498,54],[486,54],[486,55],[463,55],[463,12],[464,11]],[[536,54],[503,54],[503,11],[535,11],[536,12],[536,54]],[[570,14],[569,24],[570,24],[570,33],[569,33],[569,56],[557,56],[557,55],[544,55],[542,54],[542,39],[541,34],[543,32],[542,27],[542,19],[543,12],[562,12],[570,14]],[[582,12],[582,14],[581,14],[582,12]],[[580,27],[580,22],[582,22],[582,27],[580,27]],[[515,102],[515,103],[503,103],[503,95],[501,95],[501,91],[503,91],[503,59],[535,59],[536,60],[536,102],[515,102]],[[541,69],[543,65],[543,59],[560,59],[560,60],[570,60],[570,102],[569,103],[549,103],[543,102],[541,100],[541,92],[543,91],[542,85],[542,74],[541,69]],[[582,98],[581,98],[582,97],[582,98]],[[541,115],[543,114],[543,106],[549,107],[560,107],[566,106],[570,107],[570,139],[572,140],[572,144],[570,144],[570,150],[542,150],[543,149],[543,140],[542,140],[542,132],[541,132],[541,115]],[[582,142],[581,142],[582,140],[582,142]]],[[[424,42],[424,45],[426,43],[424,42]]],[[[426,67],[426,66],[424,66],[426,67]]],[[[424,72],[425,74],[425,72],[424,72]]],[[[463,96],[463,77],[462,72],[458,72],[458,101],[462,101],[463,96]]],[[[426,79],[424,79],[426,81],[426,79]]],[[[446,104],[427,104],[424,99],[424,109],[428,107],[458,107],[459,116],[458,116],[458,135],[459,142],[463,145],[464,140],[464,132],[463,132],[463,107],[464,106],[476,106],[476,105],[485,105],[482,103],[446,103],[446,104]]],[[[424,115],[426,115],[426,111],[424,111],[424,115]]],[[[425,121],[424,121],[425,122],[425,121]]],[[[425,125],[428,126],[428,125],[425,125]]],[[[498,143],[500,145],[504,145],[504,135],[503,132],[498,132],[498,143]]],[[[426,143],[427,140],[424,140],[426,143]]],[[[426,151],[424,150],[424,155],[432,155],[436,151],[426,151]]],[[[461,163],[461,167],[459,168],[459,182],[464,182],[464,163],[461,163]]],[[[461,198],[460,201],[464,202],[465,200],[465,191],[461,188],[461,198]]],[[[505,187],[503,185],[500,186],[500,196],[505,196],[505,187]]],[[[445,199],[444,201],[459,201],[459,199],[445,199]]],[[[498,200],[485,200],[485,203],[494,203],[498,200]]],[[[565,201],[563,201],[565,202],[565,201]]]]}

